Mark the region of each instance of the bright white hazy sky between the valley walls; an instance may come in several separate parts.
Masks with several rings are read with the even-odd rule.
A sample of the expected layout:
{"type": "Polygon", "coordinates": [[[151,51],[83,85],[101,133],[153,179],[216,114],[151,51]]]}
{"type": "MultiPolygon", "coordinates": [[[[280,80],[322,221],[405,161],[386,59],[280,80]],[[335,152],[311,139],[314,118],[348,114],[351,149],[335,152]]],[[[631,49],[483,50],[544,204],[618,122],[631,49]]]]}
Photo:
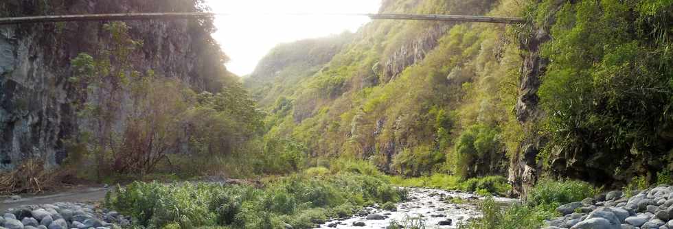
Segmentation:
{"type": "Polygon", "coordinates": [[[306,38],[355,32],[366,16],[280,16],[279,13],[376,13],[381,0],[207,0],[217,16],[214,34],[231,60],[227,69],[237,75],[251,73],[275,45],[306,38]],[[242,16],[240,14],[255,14],[242,16]]]}

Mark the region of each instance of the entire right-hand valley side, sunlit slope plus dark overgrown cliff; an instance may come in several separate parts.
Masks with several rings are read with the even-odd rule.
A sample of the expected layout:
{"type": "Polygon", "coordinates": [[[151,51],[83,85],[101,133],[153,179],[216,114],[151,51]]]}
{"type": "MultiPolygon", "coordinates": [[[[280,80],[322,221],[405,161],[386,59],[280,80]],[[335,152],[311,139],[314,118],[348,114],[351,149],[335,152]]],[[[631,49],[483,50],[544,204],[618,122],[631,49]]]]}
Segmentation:
{"type": "MultiPolygon", "coordinates": [[[[530,23],[373,21],[312,67],[320,71],[275,81],[282,93],[273,94],[275,104],[264,102],[266,139],[302,145],[313,158],[370,160],[404,176],[508,174],[523,195],[543,176],[608,186],[667,180],[671,7],[384,1],[381,12],[530,23]]],[[[295,53],[275,53],[260,66],[295,53]]]]}

